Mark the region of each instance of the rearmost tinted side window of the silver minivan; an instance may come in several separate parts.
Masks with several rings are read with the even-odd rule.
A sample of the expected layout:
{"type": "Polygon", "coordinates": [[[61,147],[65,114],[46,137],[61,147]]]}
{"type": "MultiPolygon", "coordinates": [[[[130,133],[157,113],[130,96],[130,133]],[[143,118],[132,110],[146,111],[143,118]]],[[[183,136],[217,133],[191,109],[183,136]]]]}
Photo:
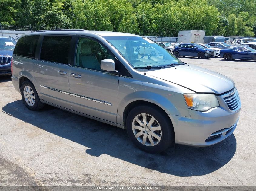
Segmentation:
{"type": "Polygon", "coordinates": [[[20,38],[14,48],[13,54],[35,58],[35,50],[38,39],[39,35],[31,35],[20,38]]]}

